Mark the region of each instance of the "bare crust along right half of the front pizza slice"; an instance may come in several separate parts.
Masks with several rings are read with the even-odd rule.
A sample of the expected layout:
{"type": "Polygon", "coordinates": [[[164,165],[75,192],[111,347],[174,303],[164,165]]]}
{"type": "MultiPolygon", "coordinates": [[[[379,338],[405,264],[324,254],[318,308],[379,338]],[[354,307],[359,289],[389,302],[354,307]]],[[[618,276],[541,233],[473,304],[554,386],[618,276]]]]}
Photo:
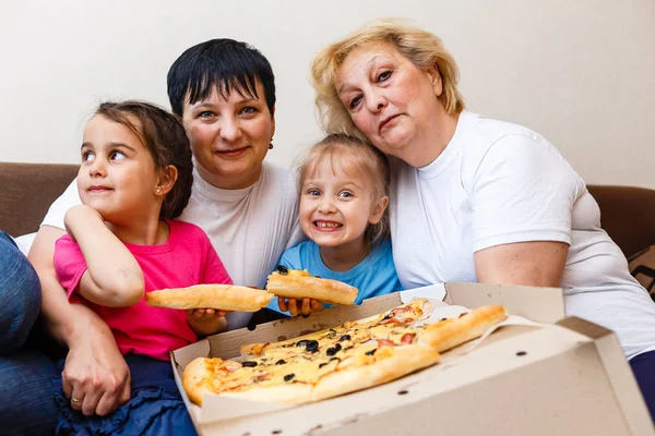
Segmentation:
{"type": "Polygon", "coordinates": [[[439,353],[426,346],[402,346],[389,349],[392,355],[365,366],[349,366],[322,377],[311,392],[311,400],[319,401],[340,395],[367,389],[395,380],[439,362],[439,353]]]}

